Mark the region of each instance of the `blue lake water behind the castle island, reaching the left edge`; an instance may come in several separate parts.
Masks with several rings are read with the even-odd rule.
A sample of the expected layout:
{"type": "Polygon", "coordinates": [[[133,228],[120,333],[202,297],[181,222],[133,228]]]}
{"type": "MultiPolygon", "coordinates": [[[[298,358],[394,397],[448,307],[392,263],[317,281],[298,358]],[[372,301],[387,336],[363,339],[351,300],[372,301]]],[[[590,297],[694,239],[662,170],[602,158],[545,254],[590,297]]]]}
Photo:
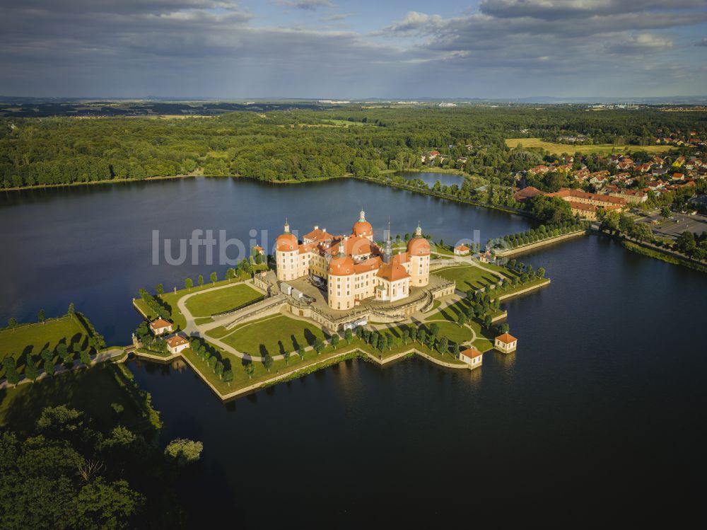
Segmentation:
{"type": "MultiPolygon", "coordinates": [[[[138,289],[162,282],[165,289],[184,287],[212,271],[219,277],[229,265],[152,265],[152,231],[170,238],[173,256],[192,230],[211,229],[238,238],[250,248],[271,248],[287,217],[293,230],[306,234],[315,224],[349,234],[361,206],[374,233],[382,237],[390,217],[393,234],[412,233],[418,221],[426,234],[448,243],[481,241],[527,229],[530,221],[493,210],[470,208],[405,190],[339,180],[307,185],[264,185],[250,180],[197,178],[117,185],[94,185],[0,196],[0,322],[11,316],[35,321],[37,311],[66,313],[73,301],[111,344],[127,344],[139,323],[132,309],[138,289]],[[264,232],[262,232],[264,231],[264,232]]],[[[189,253],[190,256],[190,253],[189,253]]],[[[238,257],[238,248],[228,250],[238,257]]],[[[243,258],[241,255],[240,258],[243,258]]]]}

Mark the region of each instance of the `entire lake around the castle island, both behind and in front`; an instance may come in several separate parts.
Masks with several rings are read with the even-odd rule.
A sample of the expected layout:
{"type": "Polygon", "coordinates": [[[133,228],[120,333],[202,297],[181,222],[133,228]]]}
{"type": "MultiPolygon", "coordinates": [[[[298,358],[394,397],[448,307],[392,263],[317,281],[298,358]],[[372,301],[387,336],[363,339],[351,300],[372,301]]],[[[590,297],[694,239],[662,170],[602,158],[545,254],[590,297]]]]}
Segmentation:
{"type": "MultiPolygon", "coordinates": [[[[3,318],[86,311],[125,343],[141,286],[211,268],[151,265],[151,230],[312,224],[482,240],[530,220],[356,180],[221,179],[10,194],[0,206],[3,318]]],[[[244,237],[245,237],[244,236],[244,237]]],[[[274,238],[273,238],[274,239],[274,238]]],[[[552,284],[503,304],[518,352],[474,372],[421,359],[344,362],[222,404],[189,369],[132,362],[165,427],[204,442],[182,483],[199,524],[380,526],[702,517],[707,276],[586,236],[521,260],[552,284]]],[[[225,268],[225,267],[224,267],[225,268]]]]}

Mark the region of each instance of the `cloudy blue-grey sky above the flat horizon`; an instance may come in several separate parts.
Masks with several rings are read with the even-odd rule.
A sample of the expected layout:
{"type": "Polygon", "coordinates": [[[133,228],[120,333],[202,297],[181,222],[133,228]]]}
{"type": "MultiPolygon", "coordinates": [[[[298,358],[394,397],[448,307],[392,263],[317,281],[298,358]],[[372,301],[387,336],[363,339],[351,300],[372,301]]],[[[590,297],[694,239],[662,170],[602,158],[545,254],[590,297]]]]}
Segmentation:
{"type": "Polygon", "coordinates": [[[0,95],[707,93],[707,0],[0,0],[0,95]]]}

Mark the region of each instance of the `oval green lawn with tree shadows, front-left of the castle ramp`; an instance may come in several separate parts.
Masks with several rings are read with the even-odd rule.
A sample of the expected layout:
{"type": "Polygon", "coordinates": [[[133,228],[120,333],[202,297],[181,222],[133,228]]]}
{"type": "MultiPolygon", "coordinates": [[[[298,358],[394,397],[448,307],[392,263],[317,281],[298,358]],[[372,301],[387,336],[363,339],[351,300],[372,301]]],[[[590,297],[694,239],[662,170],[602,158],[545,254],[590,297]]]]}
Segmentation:
{"type": "Polygon", "coordinates": [[[326,338],[317,326],[277,314],[236,326],[221,340],[239,352],[263,356],[266,352],[281,355],[300,346],[311,346],[317,338],[326,338]]]}

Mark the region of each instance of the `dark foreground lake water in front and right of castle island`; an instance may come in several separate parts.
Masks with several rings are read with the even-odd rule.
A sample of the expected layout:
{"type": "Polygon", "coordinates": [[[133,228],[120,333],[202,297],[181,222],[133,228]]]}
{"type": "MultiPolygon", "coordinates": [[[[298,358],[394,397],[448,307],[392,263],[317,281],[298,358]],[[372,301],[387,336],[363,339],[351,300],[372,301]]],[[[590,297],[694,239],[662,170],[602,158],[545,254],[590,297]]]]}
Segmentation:
{"type": "Polygon", "coordinates": [[[220,405],[188,370],[134,367],[163,440],[204,442],[189,501],[245,526],[694,514],[707,277],[597,236],[523,259],[553,282],[506,304],[519,350],[473,373],[346,362],[220,405]]]}

